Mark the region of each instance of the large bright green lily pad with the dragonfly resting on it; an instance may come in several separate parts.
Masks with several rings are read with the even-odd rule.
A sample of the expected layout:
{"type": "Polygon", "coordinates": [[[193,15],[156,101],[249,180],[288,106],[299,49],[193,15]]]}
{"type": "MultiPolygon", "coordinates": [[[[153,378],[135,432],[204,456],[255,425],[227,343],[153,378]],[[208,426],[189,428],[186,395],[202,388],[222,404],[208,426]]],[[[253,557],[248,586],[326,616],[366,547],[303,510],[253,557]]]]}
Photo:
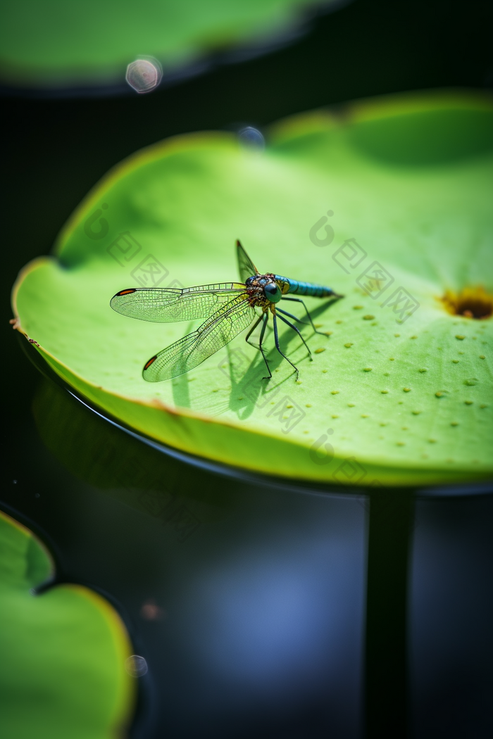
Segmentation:
{"type": "Polygon", "coordinates": [[[292,118],[263,153],[225,133],[140,151],[84,200],[55,256],[21,273],[18,328],[92,403],[186,452],[338,483],[481,479],[492,319],[442,298],[492,293],[492,119],[481,96],[421,93],[292,118]],[[149,284],[150,265],[163,287],[238,279],[237,238],[260,270],[345,296],[307,299],[330,335],[304,329],[309,361],[286,327],[298,383],[271,333],[269,383],[241,336],[146,383],[144,362],[196,324],[135,321],[109,299],[149,284]]]}

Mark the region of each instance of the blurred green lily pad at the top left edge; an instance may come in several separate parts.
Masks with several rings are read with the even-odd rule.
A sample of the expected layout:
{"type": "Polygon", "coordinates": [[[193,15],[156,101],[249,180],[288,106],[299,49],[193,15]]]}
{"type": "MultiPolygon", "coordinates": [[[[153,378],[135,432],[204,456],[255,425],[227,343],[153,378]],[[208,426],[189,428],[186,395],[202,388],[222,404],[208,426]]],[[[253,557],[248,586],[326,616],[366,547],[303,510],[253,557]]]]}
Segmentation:
{"type": "Polygon", "coordinates": [[[307,8],[330,0],[27,0],[4,4],[0,74],[13,84],[56,85],[125,78],[152,55],[166,68],[289,28],[307,8]]]}

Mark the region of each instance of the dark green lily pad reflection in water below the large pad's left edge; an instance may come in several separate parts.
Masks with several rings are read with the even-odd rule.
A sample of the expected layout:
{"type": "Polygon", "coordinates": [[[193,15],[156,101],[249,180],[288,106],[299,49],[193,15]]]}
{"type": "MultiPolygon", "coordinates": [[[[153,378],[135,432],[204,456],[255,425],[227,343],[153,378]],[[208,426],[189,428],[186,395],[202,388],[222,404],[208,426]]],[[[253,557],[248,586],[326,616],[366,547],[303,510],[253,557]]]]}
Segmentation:
{"type": "Polygon", "coordinates": [[[153,517],[173,539],[184,541],[234,499],[180,460],[166,457],[106,423],[48,380],[38,388],[33,412],[41,439],[80,480],[153,517]]]}

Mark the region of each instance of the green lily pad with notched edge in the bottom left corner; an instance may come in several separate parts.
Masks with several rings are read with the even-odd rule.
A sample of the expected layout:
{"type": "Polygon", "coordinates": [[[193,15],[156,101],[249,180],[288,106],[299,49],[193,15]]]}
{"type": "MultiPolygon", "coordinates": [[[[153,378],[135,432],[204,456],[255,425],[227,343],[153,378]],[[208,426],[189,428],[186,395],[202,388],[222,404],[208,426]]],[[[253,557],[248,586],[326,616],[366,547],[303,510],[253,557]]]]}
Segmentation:
{"type": "Polygon", "coordinates": [[[1,726],[16,739],[113,737],[129,723],[135,681],[129,637],[106,600],[56,585],[46,548],[0,512],[1,726]]]}

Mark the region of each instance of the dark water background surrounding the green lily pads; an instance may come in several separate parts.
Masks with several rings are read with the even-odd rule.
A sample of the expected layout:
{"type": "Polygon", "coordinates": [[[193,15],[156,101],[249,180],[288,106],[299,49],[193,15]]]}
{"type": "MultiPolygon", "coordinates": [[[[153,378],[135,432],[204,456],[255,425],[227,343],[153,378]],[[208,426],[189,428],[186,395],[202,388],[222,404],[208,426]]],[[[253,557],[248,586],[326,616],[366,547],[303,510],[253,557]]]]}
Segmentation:
{"type": "MultiPolygon", "coordinates": [[[[67,450],[63,465],[46,450],[35,428],[32,404],[40,375],[7,323],[16,274],[29,259],[50,251],[59,228],[99,177],[123,157],[164,137],[245,124],[262,128],[317,106],[404,90],[484,89],[493,75],[492,16],[487,2],[356,0],[314,21],[292,46],[242,64],[213,67],[150,95],[129,91],[48,99],[3,91],[1,280],[7,352],[2,497],[51,537],[62,576],[103,588],[125,610],[136,652],[146,656],[150,667],[142,681],[135,737],[362,735],[364,504],[225,480],[155,452],[152,460],[145,457],[146,469],[173,477],[200,519],[197,532],[180,542],[173,525],[131,507],[138,497],[137,483],[134,497],[129,497],[122,475],[132,476],[125,465],[143,454],[140,443],[129,442],[130,452],[123,432],[110,432],[103,420],[64,398],[61,406],[73,403],[73,411],[60,410],[64,423],[73,413],[82,429],[97,424],[94,434],[101,435],[102,446],[117,450],[107,460],[103,455],[107,476],[123,470],[116,482],[103,480],[101,471],[90,483],[82,482],[77,474],[84,476],[84,471],[67,457],[67,450]],[[106,494],[99,491],[101,486],[106,494]],[[199,486],[207,491],[203,501],[194,494],[199,486]],[[230,562],[240,563],[237,570],[230,562]],[[226,632],[217,633],[214,607],[200,600],[205,597],[200,588],[213,576],[219,577],[214,587],[226,602],[232,597],[231,583],[237,584],[237,610],[231,610],[228,623],[237,624],[239,643],[259,647],[273,641],[282,653],[288,627],[295,641],[304,635],[297,656],[293,639],[288,639],[284,672],[289,679],[279,666],[269,672],[260,658],[251,663],[248,675],[242,674],[238,654],[231,650],[237,637],[228,641],[226,632]],[[295,583],[293,602],[308,603],[299,620],[289,611],[285,632],[282,608],[262,605],[276,582],[284,583],[291,595],[295,583]],[[303,596],[306,583],[311,600],[303,596]],[[194,593],[199,595],[192,606],[194,593]],[[149,598],[166,610],[162,621],[142,618],[140,607],[149,598]],[[259,624],[259,632],[252,623],[259,624]],[[324,623],[326,640],[320,637],[324,623]],[[208,658],[197,656],[203,654],[203,644],[212,644],[212,657],[210,652],[208,658]],[[222,653],[236,664],[236,672],[231,664],[228,669],[237,679],[226,679],[224,675],[232,674],[227,670],[221,677],[211,669],[222,653]]],[[[56,420],[50,418],[50,423],[56,420]]],[[[408,655],[411,732],[420,738],[479,739],[493,728],[493,499],[472,492],[464,488],[455,497],[416,503],[408,655]]],[[[384,604],[382,608],[385,613],[384,604]]],[[[392,694],[388,700],[392,716],[392,694]]]]}

